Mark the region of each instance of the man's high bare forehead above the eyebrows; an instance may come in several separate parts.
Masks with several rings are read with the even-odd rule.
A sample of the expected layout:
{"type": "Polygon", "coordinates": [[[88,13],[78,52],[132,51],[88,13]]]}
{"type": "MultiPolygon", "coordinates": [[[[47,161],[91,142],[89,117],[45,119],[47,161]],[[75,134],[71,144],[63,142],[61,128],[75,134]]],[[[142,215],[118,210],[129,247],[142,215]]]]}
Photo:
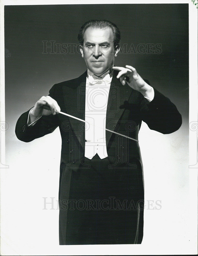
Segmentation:
{"type": "Polygon", "coordinates": [[[92,42],[98,44],[106,41],[113,42],[113,32],[110,27],[103,29],[89,27],[85,30],[84,43],[92,42]]]}

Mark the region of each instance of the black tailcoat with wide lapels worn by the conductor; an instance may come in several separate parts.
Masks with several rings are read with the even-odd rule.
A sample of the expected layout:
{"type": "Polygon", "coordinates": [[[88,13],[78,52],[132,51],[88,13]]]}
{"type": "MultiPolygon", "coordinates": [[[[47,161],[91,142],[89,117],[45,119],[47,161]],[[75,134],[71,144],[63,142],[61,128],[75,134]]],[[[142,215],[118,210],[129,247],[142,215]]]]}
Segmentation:
{"type": "MultiPolygon", "coordinates": [[[[128,85],[123,86],[116,78],[117,74],[118,72],[114,71],[109,91],[107,129],[136,140],[142,121],[146,122],[150,129],[164,134],[179,129],[182,123],[181,115],[168,98],[154,89],[154,99],[148,102],[138,91],[128,85]]],[[[86,76],[87,71],[76,79],[55,84],[49,91],[49,95],[57,101],[62,112],[83,120],[85,120],[86,76]]],[[[60,202],[67,200],[71,172],[78,170],[80,164],[83,166],[85,125],[81,121],[56,114],[42,116],[34,126],[28,127],[28,113],[29,111],[22,114],[16,124],[16,136],[21,141],[32,141],[53,132],[59,126],[62,137],[59,200],[60,202]]],[[[106,131],[106,145],[111,163],[109,168],[136,169],[134,162],[142,166],[137,141],[106,131]]],[[[134,172],[134,175],[138,174],[134,172]]],[[[140,191],[143,192],[143,185],[141,186],[140,191]]],[[[65,242],[66,217],[67,211],[60,209],[60,244],[65,242]]]]}

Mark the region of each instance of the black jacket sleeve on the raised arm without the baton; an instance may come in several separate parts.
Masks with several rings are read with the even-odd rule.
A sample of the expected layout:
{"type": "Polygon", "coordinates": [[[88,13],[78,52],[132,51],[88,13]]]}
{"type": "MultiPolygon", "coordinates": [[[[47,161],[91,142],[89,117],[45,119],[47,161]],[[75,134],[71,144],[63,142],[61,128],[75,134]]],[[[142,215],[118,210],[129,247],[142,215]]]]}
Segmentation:
{"type": "Polygon", "coordinates": [[[182,124],[182,117],[176,106],[154,88],[154,99],[147,103],[141,94],[141,118],[151,130],[164,134],[177,131],[182,124]]]}

